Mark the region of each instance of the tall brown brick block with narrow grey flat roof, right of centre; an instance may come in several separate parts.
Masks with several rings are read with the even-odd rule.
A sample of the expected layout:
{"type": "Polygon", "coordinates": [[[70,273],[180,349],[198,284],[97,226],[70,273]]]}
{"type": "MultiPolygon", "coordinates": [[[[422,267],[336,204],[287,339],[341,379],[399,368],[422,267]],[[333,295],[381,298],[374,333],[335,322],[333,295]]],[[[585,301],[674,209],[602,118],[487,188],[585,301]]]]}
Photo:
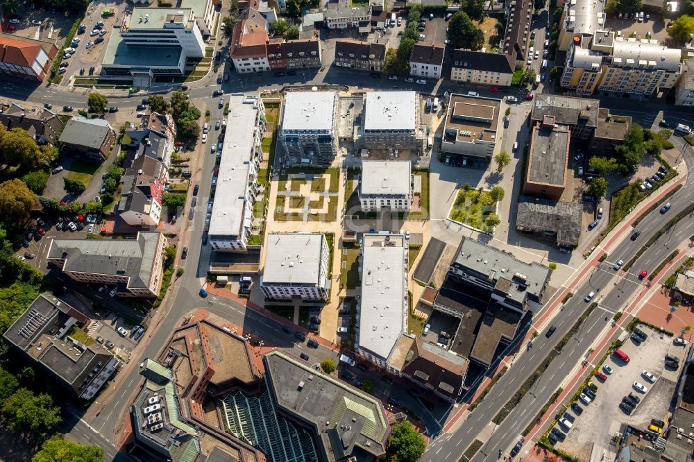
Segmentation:
{"type": "Polygon", "coordinates": [[[559,200],[566,188],[570,133],[555,117],[533,126],[523,194],[559,200]]]}

